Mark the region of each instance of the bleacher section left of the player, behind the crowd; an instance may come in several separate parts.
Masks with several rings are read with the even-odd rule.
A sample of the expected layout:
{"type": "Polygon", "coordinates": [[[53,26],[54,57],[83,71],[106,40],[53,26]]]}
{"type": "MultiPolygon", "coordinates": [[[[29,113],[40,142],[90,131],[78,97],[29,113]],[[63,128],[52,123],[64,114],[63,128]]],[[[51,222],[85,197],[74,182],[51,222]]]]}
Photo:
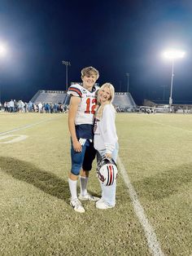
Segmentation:
{"type": "Polygon", "coordinates": [[[33,104],[52,103],[63,104],[66,98],[65,90],[38,90],[37,94],[33,96],[31,102],[33,104]]]}

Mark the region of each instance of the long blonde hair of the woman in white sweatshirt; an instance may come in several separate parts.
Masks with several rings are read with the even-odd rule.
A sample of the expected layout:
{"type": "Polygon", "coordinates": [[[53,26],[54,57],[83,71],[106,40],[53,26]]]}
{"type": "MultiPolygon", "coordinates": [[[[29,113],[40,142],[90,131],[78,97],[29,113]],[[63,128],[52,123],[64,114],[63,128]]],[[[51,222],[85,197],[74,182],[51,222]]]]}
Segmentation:
{"type": "MultiPolygon", "coordinates": [[[[103,86],[101,86],[101,88],[98,90],[98,99],[97,99],[98,109],[97,109],[96,115],[95,115],[96,118],[98,118],[98,119],[102,118],[102,116],[103,116],[103,108],[105,107],[106,104],[111,104],[113,99],[114,99],[114,97],[115,97],[115,88],[114,88],[114,86],[112,86],[110,82],[104,83],[103,86]],[[106,87],[109,89],[111,97],[104,104],[101,104],[101,101],[99,99],[99,92],[101,90],[103,90],[104,88],[106,88],[106,87]]],[[[115,110],[115,108],[114,108],[114,110],[115,110]]]]}

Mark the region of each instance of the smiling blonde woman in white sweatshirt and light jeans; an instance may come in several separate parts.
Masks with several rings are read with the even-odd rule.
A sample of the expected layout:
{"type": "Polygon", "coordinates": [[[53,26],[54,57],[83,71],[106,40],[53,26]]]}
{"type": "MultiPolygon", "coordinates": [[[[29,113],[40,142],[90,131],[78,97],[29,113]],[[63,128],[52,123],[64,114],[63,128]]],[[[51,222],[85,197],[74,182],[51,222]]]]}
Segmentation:
{"type": "MultiPolygon", "coordinates": [[[[98,161],[101,157],[116,161],[118,154],[118,138],[116,135],[116,110],[112,106],[115,96],[111,83],[105,83],[98,90],[98,109],[94,125],[94,148],[97,149],[98,161]]],[[[101,183],[102,197],[96,203],[98,209],[112,208],[116,205],[116,181],[111,186],[101,183]]]]}

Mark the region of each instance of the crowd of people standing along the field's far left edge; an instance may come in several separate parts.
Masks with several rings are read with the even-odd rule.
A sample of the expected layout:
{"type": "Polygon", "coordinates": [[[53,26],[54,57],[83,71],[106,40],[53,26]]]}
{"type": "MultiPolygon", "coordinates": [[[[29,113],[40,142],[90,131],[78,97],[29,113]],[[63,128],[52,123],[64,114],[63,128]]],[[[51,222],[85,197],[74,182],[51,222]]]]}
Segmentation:
{"type": "Polygon", "coordinates": [[[22,100],[16,101],[11,99],[5,101],[4,104],[0,102],[0,111],[8,113],[65,113],[68,108],[63,104],[52,104],[52,103],[38,103],[33,104],[29,101],[28,103],[22,100]]]}

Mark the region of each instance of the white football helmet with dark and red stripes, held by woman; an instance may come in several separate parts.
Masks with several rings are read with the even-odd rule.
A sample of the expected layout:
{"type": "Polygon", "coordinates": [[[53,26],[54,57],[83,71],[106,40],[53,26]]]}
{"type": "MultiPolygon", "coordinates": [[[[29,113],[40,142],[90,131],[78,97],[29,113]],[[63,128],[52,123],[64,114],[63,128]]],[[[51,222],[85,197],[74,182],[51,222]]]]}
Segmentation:
{"type": "Polygon", "coordinates": [[[116,162],[111,158],[108,159],[106,157],[102,157],[100,161],[98,161],[97,165],[97,174],[98,179],[105,185],[111,186],[116,178],[117,178],[117,166],[116,162]]]}

